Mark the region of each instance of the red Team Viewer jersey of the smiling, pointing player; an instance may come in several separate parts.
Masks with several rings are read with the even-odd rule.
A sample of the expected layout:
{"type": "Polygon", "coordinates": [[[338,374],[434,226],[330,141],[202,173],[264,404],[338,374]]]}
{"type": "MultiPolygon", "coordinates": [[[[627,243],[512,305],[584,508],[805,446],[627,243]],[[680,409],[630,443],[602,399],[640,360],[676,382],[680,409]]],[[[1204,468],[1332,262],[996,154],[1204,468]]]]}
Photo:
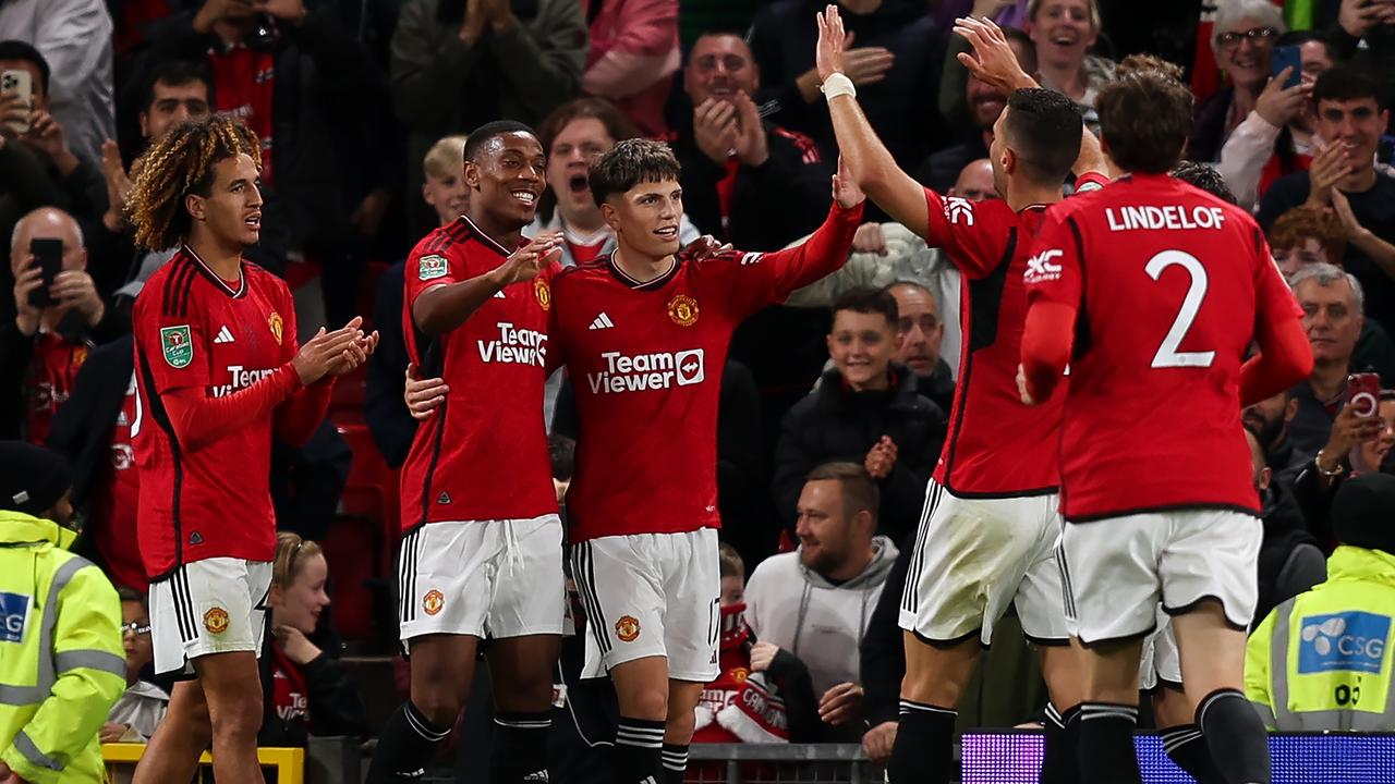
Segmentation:
{"type": "Polygon", "coordinates": [[[444,378],[451,393],[417,428],[402,466],[405,530],[557,513],[543,421],[551,275],[506,286],[434,340],[412,319],[423,292],[484,275],[509,252],[460,216],[427,234],[407,257],[407,354],[425,378],[444,378]]]}

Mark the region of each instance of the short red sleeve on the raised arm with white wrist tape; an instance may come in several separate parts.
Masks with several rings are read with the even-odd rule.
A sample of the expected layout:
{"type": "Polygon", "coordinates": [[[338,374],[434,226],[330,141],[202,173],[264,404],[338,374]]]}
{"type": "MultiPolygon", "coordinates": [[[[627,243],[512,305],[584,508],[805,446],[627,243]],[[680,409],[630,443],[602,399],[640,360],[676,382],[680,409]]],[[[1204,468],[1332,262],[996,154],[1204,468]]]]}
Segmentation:
{"type": "Polygon", "coordinates": [[[1013,212],[1007,202],[988,199],[974,204],[925,188],[925,243],[932,248],[944,248],[950,262],[964,275],[986,278],[1003,264],[1013,212]]]}

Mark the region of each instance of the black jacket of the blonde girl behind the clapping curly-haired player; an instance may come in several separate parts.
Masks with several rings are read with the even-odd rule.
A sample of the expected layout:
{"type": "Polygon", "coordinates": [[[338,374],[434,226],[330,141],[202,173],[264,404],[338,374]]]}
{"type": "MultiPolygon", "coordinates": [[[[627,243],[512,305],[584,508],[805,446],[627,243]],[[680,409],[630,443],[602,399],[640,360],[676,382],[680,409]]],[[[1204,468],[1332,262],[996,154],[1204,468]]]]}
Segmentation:
{"type": "MultiPolygon", "coordinates": [[[[268,614],[269,622],[271,614],[268,614]]],[[[310,642],[315,643],[321,654],[300,668],[300,677],[304,678],[308,692],[306,695],[306,702],[310,704],[308,723],[286,721],[276,714],[272,702],[275,639],[276,635],[268,628],[262,639],[261,657],[257,660],[262,686],[262,728],[257,734],[257,745],[303,748],[310,735],[363,738],[368,732],[363,698],[359,696],[359,686],[349,678],[349,671],[339,661],[343,642],[331,629],[329,615],[319,619],[319,628],[310,636],[310,642]]]]}

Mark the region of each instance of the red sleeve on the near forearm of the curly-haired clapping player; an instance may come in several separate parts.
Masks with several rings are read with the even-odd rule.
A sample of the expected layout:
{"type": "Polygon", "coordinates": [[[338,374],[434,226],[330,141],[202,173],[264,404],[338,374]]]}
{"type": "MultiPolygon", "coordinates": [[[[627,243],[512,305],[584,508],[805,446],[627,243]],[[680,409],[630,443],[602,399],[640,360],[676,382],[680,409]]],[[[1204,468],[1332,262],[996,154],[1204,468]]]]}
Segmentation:
{"type": "Polygon", "coordinates": [[[271,416],[276,406],[300,388],[300,377],[287,363],[257,384],[225,398],[209,398],[204,389],[186,386],[162,393],[160,402],[169,412],[174,437],[193,452],[271,416]]]}

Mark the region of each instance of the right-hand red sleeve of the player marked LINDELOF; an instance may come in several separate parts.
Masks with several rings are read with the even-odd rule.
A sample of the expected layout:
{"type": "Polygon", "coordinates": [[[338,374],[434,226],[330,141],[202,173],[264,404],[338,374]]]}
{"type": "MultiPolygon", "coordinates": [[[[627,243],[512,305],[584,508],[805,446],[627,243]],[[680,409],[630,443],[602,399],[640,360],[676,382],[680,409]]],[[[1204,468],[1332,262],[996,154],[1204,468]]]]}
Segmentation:
{"type": "Polygon", "coordinates": [[[1260,353],[1240,368],[1242,406],[1272,398],[1313,372],[1313,345],[1303,329],[1303,308],[1258,233],[1256,244],[1254,339],[1260,353]]]}

